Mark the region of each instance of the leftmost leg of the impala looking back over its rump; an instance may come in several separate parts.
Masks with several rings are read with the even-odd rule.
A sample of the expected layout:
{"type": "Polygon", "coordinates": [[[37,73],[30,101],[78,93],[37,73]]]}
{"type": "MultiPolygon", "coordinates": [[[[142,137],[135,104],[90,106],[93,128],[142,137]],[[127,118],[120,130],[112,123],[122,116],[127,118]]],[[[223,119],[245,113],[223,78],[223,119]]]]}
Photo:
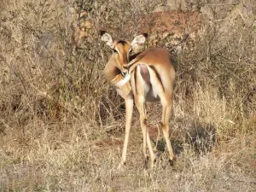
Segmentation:
{"type": "Polygon", "coordinates": [[[132,112],[133,112],[133,99],[129,97],[125,99],[125,142],[124,142],[122,160],[119,163],[119,167],[118,167],[119,169],[125,165],[125,161],[126,161],[128,140],[129,140],[129,135],[131,130],[132,112]]]}

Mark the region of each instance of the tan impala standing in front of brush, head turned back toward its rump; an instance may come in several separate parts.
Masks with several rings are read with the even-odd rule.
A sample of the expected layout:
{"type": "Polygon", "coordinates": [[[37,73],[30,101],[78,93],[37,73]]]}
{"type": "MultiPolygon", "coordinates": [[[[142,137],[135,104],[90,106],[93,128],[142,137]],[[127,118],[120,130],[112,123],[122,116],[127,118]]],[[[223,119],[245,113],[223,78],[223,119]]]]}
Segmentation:
{"type": "Polygon", "coordinates": [[[104,69],[105,76],[116,87],[119,95],[125,99],[125,142],[119,167],[122,167],[126,161],[133,102],[135,102],[140,114],[145,162],[147,161],[146,149],[148,145],[151,166],[154,165],[155,156],[148,136],[145,102],[157,101],[160,101],[163,107],[160,127],[166,139],[172,165],[174,154],[169,138],[169,117],[172,110],[175,71],[172,66],[171,55],[166,49],[151,48],[138,54],[136,58],[130,61],[131,50],[145,42],[145,34],[135,37],[130,43],[124,40],[113,41],[110,34],[107,32],[101,33],[102,41],[113,49],[113,55],[110,56],[104,69]]]}

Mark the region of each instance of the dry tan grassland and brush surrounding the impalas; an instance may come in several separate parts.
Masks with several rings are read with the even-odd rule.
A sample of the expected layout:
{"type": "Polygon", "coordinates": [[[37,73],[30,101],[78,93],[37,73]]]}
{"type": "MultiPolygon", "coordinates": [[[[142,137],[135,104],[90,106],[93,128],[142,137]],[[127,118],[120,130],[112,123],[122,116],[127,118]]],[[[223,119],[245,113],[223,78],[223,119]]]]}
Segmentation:
{"type": "MultiPolygon", "coordinates": [[[[173,52],[175,166],[154,103],[147,106],[154,168],[143,166],[135,110],[127,163],[118,171],[125,108],[102,75],[111,51],[97,30],[116,28],[122,36],[127,20],[166,1],[1,1],[0,191],[255,191],[255,3],[246,2],[250,23],[249,14],[230,14],[243,1],[226,2],[195,1],[194,9],[210,7],[214,20],[193,49],[173,52]],[[90,13],[94,27],[74,51],[78,9],[90,13]]],[[[158,46],[172,49],[167,43],[158,46]]]]}

